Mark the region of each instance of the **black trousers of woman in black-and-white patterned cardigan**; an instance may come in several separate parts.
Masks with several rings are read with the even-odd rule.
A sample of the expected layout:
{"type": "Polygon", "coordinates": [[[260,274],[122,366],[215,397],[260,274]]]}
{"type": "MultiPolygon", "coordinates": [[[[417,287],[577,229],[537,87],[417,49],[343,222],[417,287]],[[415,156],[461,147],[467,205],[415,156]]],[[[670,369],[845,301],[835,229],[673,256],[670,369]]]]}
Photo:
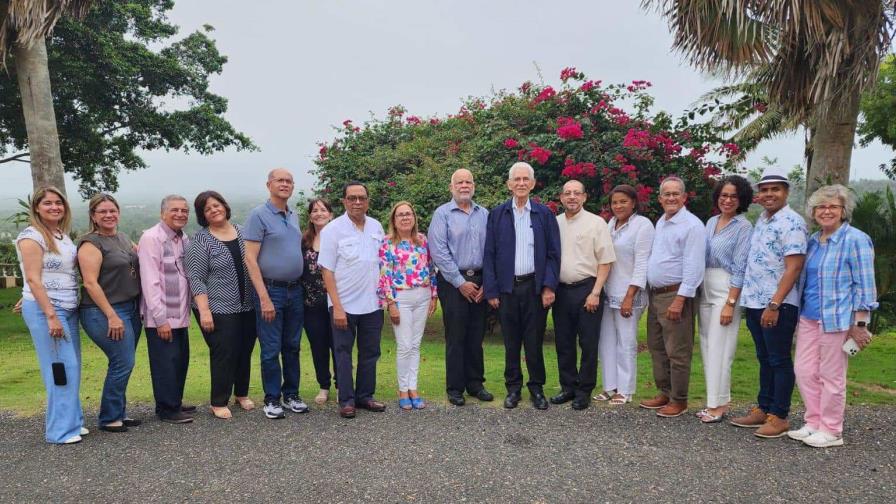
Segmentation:
{"type": "MultiPolygon", "coordinates": [[[[199,312],[193,310],[196,321],[199,312]]],[[[212,313],[215,330],[202,331],[208,345],[209,370],[212,375],[210,402],[212,406],[227,406],[230,396],[249,395],[249,376],[252,372],[252,351],[258,335],[255,312],[212,313]]]]}

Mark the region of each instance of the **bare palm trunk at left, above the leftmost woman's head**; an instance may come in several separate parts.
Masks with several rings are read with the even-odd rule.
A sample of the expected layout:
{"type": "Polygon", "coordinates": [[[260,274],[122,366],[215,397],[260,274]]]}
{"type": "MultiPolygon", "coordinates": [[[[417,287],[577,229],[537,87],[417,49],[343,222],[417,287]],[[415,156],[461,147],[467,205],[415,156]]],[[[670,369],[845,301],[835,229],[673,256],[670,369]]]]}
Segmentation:
{"type": "Polygon", "coordinates": [[[59,153],[59,133],[56,131],[56,112],[50,90],[50,69],[47,66],[47,46],[38,39],[31,47],[15,44],[14,56],[28,150],[31,157],[31,180],[34,190],[55,186],[65,192],[65,172],[59,153]]]}

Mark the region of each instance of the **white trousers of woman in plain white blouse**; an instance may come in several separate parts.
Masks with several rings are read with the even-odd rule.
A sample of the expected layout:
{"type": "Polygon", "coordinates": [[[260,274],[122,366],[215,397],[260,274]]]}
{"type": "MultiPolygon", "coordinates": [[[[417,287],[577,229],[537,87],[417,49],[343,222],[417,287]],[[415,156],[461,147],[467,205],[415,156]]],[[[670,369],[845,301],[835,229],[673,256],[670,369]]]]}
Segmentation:
{"type": "Polygon", "coordinates": [[[600,322],[597,355],[601,362],[604,390],[633,396],[638,378],[638,321],[644,308],[633,308],[631,317],[623,317],[619,308],[604,303],[600,322]]]}

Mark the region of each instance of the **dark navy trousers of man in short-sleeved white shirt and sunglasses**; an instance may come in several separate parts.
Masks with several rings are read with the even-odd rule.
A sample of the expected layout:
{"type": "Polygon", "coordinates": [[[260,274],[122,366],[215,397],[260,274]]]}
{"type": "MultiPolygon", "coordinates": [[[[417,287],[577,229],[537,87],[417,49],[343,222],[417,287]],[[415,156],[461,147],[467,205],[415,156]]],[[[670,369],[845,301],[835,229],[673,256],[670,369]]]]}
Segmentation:
{"type": "MultiPolygon", "coordinates": [[[[330,317],[333,311],[330,310],[330,317]]],[[[339,405],[354,406],[373,399],[376,391],[376,362],[380,358],[383,332],[383,311],[363,315],[347,314],[348,329],[336,329],[332,318],[333,346],[336,351],[336,381],[339,382],[339,405]],[[352,349],[358,340],[358,377],[352,379],[352,349]]]]}

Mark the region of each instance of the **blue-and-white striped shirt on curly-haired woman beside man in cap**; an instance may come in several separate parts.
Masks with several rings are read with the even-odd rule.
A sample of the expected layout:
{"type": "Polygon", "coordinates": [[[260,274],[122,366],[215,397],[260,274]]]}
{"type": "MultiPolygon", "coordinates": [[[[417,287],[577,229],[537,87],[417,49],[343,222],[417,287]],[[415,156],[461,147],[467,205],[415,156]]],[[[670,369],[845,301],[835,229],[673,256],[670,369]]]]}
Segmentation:
{"type": "Polygon", "coordinates": [[[740,289],[744,286],[753,225],[743,214],[735,215],[716,233],[718,224],[718,215],[706,221],[706,267],[724,269],[731,275],[729,287],[740,289]]]}

